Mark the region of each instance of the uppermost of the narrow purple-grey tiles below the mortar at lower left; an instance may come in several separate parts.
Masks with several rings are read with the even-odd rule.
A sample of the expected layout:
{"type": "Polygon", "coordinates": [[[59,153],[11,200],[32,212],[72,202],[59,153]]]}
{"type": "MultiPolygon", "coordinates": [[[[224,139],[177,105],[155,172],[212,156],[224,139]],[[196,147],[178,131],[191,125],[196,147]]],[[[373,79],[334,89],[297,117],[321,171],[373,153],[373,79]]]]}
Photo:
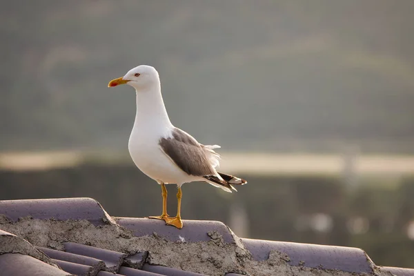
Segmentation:
{"type": "Polygon", "coordinates": [[[74,242],[65,242],[63,243],[63,246],[65,246],[66,252],[101,259],[105,263],[106,270],[110,272],[117,272],[126,257],[126,254],[124,253],[93,246],[85,246],[74,242]]]}

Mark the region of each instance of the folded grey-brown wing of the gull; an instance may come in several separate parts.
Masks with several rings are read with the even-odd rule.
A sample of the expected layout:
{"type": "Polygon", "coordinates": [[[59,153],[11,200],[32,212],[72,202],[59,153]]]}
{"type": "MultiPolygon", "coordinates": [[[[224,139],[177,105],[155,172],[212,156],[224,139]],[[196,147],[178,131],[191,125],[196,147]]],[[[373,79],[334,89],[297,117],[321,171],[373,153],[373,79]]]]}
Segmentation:
{"type": "Polygon", "coordinates": [[[159,139],[161,149],[188,175],[216,175],[206,155],[206,148],[187,132],[175,128],[172,137],[159,139]]]}

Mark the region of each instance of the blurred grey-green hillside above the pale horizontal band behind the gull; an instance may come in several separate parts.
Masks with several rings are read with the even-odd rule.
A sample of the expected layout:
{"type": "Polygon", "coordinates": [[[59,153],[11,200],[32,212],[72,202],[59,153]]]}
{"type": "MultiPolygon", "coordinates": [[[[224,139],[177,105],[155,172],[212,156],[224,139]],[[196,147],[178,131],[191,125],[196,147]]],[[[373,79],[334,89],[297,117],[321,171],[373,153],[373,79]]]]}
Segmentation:
{"type": "Polygon", "coordinates": [[[414,151],[414,1],[3,2],[0,150],[126,148],[146,63],[201,142],[414,151]]]}

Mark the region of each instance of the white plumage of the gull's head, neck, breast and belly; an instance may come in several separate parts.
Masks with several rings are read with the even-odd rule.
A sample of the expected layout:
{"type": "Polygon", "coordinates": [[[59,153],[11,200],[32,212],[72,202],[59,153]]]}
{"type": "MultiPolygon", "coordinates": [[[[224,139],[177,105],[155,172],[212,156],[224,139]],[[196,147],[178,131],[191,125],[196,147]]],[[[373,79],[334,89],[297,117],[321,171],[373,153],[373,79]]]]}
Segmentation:
{"type": "MultiPolygon", "coordinates": [[[[128,142],[130,156],[135,165],[159,183],[181,186],[191,181],[207,181],[201,176],[189,175],[181,170],[159,145],[160,139],[172,138],[175,126],[168,118],[161,95],[159,75],[155,68],[138,66],[130,70],[123,79],[128,80],[127,84],[134,87],[137,94],[137,113],[128,142]],[[139,76],[137,77],[136,74],[139,76]]],[[[219,155],[214,148],[219,146],[204,146],[204,148],[206,148],[207,161],[210,162],[208,166],[211,166],[215,175],[221,179],[215,171],[215,167],[219,166],[219,155]]],[[[207,182],[230,192],[230,189],[224,186],[207,182]]]]}

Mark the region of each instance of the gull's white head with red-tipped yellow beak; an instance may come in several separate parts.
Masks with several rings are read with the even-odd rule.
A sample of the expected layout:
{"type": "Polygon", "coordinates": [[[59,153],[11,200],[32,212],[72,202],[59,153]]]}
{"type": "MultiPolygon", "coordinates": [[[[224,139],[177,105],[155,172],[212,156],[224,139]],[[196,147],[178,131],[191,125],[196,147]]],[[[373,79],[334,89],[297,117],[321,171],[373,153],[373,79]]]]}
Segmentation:
{"type": "Polygon", "coordinates": [[[120,84],[128,84],[135,90],[148,90],[159,83],[159,75],[157,70],[152,66],[140,65],[129,70],[124,77],[112,79],[108,83],[108,87],[119,86],[120,84]]]}

